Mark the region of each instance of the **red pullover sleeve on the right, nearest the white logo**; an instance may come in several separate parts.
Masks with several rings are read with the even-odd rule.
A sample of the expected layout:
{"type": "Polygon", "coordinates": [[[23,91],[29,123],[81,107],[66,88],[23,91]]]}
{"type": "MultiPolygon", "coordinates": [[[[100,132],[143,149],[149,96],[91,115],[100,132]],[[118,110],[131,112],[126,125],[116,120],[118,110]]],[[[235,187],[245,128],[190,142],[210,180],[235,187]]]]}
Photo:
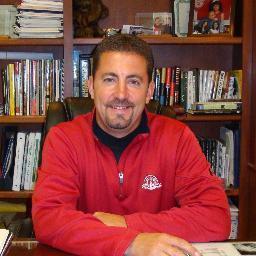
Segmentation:
{"type": "Polygon", "coordinates": [[[222,182],[211,173],[197,139],[187,127],[179,139],[175,161],[177,207],[157,214],[126,215],[127,226],[140,232],[165,232],[190,242],[227,239],[231,221],[222,182]]]}

